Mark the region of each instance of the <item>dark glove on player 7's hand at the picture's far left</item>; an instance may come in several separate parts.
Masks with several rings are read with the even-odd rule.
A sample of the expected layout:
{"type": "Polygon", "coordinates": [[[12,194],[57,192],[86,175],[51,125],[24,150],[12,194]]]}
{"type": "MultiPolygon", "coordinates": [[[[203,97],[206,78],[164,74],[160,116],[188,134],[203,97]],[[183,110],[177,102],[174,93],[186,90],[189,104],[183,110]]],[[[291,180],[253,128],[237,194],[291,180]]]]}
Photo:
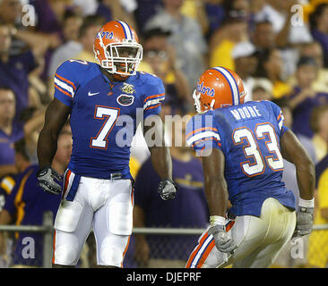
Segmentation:
{"type": "Polygon", "coordinates": [[[39,186],[48,193],[58,195],[62,192],[62,187],[56,182],[63,181],[62,176],[50,166],[45,166],[37,172],[39,186]],[[56,181],[55,181],[56,180],[56,181]]]}

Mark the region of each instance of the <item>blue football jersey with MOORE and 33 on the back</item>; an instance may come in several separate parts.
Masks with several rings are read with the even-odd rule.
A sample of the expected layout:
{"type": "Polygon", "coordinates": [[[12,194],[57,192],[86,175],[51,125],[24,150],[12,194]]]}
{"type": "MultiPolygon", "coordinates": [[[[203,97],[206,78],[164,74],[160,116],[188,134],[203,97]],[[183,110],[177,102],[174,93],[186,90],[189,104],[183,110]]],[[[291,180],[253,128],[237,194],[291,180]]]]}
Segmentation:
{"type": "Polygon", "coordinates": [[[225,156],[230,214],[261,215],[263,201],[276,198],[295,208],[292,191],[281,181],[283,159],[281,108],[270,101],[251,101],[195,115],[186,128],[186,141],[201,156],[219,148],[225,156]]]}

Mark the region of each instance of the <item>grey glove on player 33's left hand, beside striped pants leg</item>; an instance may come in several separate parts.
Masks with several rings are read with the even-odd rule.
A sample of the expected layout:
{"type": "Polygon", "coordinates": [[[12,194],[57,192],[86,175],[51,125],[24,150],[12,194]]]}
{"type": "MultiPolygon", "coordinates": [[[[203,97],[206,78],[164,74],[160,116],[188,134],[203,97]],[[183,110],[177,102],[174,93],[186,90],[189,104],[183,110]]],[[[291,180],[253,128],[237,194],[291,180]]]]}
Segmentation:
{"type": "Polygon", "coordinates": [[[234,240],[226,232],[226,227],[221,224],[212,225],[208,231],[212,234],[215,240],[215,246],[219,251],[224,253],[233,253],[237,248],[234,244],[234,240]]]}

